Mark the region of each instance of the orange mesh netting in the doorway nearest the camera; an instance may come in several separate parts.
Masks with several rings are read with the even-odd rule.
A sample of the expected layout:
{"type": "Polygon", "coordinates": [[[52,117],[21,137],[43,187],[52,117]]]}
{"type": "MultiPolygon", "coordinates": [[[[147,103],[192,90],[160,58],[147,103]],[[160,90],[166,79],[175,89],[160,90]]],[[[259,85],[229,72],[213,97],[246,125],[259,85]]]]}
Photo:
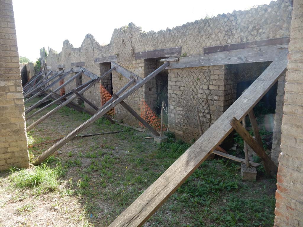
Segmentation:
{"type": "MultiPolygon", "coordinates": [[[[146,104],[144,100],[140,104],[141,117],[151,125],[155,130],[160,131],[161,129],[161,118],[157,117],[156,114],[151,110],[150,107],[146,104]]],[[[141,127],[144,127],[142,123],[139,124],[141,127]]],[[[163,124],[163,131],[167,129],[167,126],[163,124]]]]}

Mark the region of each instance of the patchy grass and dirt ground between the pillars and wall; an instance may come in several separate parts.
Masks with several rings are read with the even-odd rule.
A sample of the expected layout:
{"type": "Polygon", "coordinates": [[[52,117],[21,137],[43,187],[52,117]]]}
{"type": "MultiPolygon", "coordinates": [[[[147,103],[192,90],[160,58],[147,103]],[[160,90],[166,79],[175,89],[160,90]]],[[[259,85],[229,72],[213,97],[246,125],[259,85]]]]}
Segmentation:
{"type": "MultiPolygon", "coordinates": [[[[88,117],[66,107],[28,132],[28,144],[67,135],[88,117]]],[[[60,148],[47,162],[64,169],[56,190],[19,188],[2,173],[0,226],[108,226],[190,146],[170,134],[159,145],[148,133],[104,119],[81,134],[117,130],[125,131],[60,148]]],[[[54,143],[29,151],[37,156],[54,143]]],[[[260,172],[256,182],[242,181],[239,166],[220,157],[205,161],[144,226],[272,226],[275,180],[260,172]]]]}

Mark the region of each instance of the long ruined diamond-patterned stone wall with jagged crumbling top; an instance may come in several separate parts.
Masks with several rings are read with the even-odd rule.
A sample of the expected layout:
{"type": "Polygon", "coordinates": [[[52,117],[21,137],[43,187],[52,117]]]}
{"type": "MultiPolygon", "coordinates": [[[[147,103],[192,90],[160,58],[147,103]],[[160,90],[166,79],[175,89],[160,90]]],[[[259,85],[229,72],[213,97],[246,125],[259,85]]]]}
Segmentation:
{"type": "MultiPolygon", "coordinates": [[[[115,29],[110,43],[101,46],[92,35],[86,35],[79,48],[73,48],[67,40],[62,51],[50,51],[48,66],[56,70],[57,64],[71,67],[72,62],[85,62],[85,68],[100,75],[99,63],[94,58],[117,55],[117,64],[140,77],[145,77],[150,69],[149,60],[135,60],[134,53],[162,48],[181,47],[183,55],[203,54],[203,48],[221,44],[231,44],[262,39],[289,36],[292,11],[291,0],[278,0],[269,5],[245,11],[218,15],[186,23],[165,31],[142,32],[130,23],[115,29]]],[[[102,70],[101,70],[102,71],[102,70]]],[[[200,111],[203,131],[230,106],[233,100],[232,84],[227,66],[196,67],[168,70],[168,127],[178,137],[187,141],[199,136],[195,109],[200,111]]],[[[253,75],[251,78],[254,79],[253,75]]],[[[83,83],[89,78],[83,76],[83,83]]],[[[117,72],[112,73],[112,90],[116,92],[127,80],[117,72]]],[[[102,84],[102,82],[101,82],[102,84]]],[[[153,82],[151,81],[151,86],[153,82]]],[[[65,90],[74,88],[67,86],[65,90]]],[[[100,106],[100,85],[84,94],[95,105],[100,106]]],[[[140,113],[142,100],[153,103],[151,87],[145,85],[125,101],[140,113]],[[148,90],[149,89],[149,90],[148,90]],[[150,96],[148,96],[150,94],[150,96]]],[[[86,108],[90,108],[85,104],[86,108]]],[[[151,107],[153,108],[153,107],[151,107]]],[[[116,118],[138,126],[138,121],[121,106],[115,108],[116,118]]]]}

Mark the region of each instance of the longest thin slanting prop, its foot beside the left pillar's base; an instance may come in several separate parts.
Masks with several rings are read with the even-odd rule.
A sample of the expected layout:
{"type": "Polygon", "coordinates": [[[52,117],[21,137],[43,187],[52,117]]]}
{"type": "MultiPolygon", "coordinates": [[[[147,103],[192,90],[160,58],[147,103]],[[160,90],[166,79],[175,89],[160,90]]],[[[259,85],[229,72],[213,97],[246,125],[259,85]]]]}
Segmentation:
{"type": "Polygon", "coordinates": [[[73,130],[71,133],[69,133],[66,137],[64,137],[58,143],[55,143],[48,150],[46,150],[41,155],[39,155],[38,157],[36,157],[35,160],[34,160],[35,165],[37,165],[38,163],[41,163],[48,156],[50,156],[52,153],[54,153],[56,150],[58,150],[60,147],[62,147],[65,143],[67,143],[68,141],[70,141],[72,138],[74,138],[80,132],[82,132],[83,130],[85,130],[88,126],[90,126],[92,123],[94,123],[100,117],[102,117],[110,109],[112,109],[113,107],[115,107],[116,105],[118,105],[121,101],[125,100],[128,96],[130,96],[131,94],[133,94],[136,90],[138,90],[144,84],[148,83],[152,78],[154,78],[159,72],[161,72],[168,65],[169,65],[169,63],[165,62],[158,69],[156,69],[154,72],[152,72],[147,77],[145,77],[140,83],[135,84],[135,86],[133,86],[128,91],[126,91],[124,94],[122,94],[116,100],[114,100],[112,103],[108,104],[106,107],[104,107],[101,110],[99,110],[94,116],[92,116],[90,119],[88,119],[87,121],[85,121],[84,123],[82,123],[79,127],[77,127],[75,130],[73,130]]]}

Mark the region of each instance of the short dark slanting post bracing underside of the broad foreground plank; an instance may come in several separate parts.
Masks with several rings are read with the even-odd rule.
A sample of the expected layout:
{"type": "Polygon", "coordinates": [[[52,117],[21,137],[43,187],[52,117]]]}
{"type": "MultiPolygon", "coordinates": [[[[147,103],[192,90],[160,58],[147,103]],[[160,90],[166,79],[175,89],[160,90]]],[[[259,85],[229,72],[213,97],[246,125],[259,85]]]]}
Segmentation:
{"type": "Polygon", "coordinates": [[[265,153],[263,146],[260,146],[254,138],[246,131],[245,128],[239,123],[237,118],[233,117],[230,122],[230,125],[235,129],[235,131],[247,142],[247,144],[251,147],[252,150],[261,158],[265,171],[269,175],[275,177],[278,172],[278,167],[275,163],[268,157],[265,153]]]}

